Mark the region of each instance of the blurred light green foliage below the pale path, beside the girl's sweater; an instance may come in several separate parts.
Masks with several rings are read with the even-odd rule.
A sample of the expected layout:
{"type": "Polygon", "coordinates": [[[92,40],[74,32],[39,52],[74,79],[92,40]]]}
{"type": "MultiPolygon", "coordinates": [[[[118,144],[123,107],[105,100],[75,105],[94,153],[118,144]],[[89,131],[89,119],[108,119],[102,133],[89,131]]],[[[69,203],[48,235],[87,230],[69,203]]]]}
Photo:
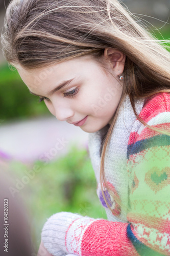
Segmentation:
{"type": "Polygon", "coordinates": [[[74,146],[66,156],[47,164],[37,161],[26,166],[20,162],[11,162],[10,169],[15,173],[14,188],[18,180],[24,184],[18,194],[30,209],[36,246],[40,243],[40,233],[46,218],[56,212],[69,211],[106,219],[105,210],[96,195],[96,180],[85,149],[74,146]],[[29,178],[28,173],[32,178],[29,178]],[[24,183],[26,180],[27,184],[24,183]]]}

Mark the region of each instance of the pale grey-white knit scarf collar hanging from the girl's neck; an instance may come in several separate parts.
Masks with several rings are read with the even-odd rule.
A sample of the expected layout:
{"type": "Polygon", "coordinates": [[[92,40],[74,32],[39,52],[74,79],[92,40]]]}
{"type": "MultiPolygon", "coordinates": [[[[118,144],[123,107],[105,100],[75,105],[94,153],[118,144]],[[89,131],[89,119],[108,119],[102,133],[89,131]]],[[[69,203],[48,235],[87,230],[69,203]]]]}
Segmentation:
{"type": "MultiPolygon", "coordinates": [[[[135,102],[135,109],[137,114],[142,110],[144,100],[138,100],[135,102]]],[[[129,96],[126,96],[122,106],[120,106],[116,123],[113,129],[111,140],[107,146],[107,151],[105,155],[105,176],[106,180],[114,187],[114,192],[120,198],[121,203],[127,209],[128,206],[128,175],[126,169],[127,163],[127,147],[130,133],[132,127],[136,120],[136,116],[133,112],[132,105],[130,103],[129,96]]],[[[98,183],[97,194],[101,195],[101,185],[100,185],[100,147],[103,135],[106,133],[107,129],[104,127],[95,133],[89,134],[89,153],[92,162],[92,166],[95,172],[96,181],[98,183]]],[[[113,198],[112,208],[115,207],[115,202],[113,198]]],[[[104,204],[103,204],[104,205],[104,204]]],[[[126,222],[126,210],[122,209],[118,216],[112,214],[112,212],[106,208],[106,214],[108,220],[126,222]]]]}

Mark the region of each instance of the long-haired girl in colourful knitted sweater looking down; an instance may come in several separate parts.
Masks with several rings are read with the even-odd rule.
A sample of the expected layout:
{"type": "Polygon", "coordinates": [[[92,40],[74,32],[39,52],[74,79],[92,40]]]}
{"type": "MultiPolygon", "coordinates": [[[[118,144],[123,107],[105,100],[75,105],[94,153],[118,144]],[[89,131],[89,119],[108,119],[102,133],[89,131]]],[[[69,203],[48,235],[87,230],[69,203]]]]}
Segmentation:
{"type": "Polygon", "coordinates": [[[53,215],[39,255],[170,255],[170,55],[163,44],[117,0],[13,0],[2,41],[30,92],[57,119],[89,133],[108,217],[53,215]]]}

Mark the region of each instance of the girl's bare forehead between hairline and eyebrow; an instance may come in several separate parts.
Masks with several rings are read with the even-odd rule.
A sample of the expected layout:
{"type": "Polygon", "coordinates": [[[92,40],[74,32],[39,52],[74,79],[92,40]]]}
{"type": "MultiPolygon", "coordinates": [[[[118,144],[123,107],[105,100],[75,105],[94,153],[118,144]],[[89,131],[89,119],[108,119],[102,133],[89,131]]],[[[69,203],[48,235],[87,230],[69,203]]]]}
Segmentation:
{"type": "Polygon", "coordinates": [[[91,73],[91,67],[96,68],[96,60],[90,56],[73,58],[63,62],[58,62],[52,66],[39,69],[25,69],[17,67],[17,71],[28,88],[34,92],[41,86],[60,83],[63,80],[69,80],[74,77],[91,73]]]}

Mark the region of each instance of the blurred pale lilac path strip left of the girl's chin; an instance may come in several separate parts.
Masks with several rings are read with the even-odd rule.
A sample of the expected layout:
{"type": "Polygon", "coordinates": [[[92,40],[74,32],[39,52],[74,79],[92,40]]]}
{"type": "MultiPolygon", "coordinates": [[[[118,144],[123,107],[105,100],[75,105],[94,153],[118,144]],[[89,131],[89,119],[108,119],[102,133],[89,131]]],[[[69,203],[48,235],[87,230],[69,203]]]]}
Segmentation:
{"type": "Polygon", "coordinates": [[[73,144],[87,147],[87,139],[88,134],[80,127],[55,117],[15,121],[0,125],[0,157],[26,163],[40,158],[53,160],[73,144]]]}

